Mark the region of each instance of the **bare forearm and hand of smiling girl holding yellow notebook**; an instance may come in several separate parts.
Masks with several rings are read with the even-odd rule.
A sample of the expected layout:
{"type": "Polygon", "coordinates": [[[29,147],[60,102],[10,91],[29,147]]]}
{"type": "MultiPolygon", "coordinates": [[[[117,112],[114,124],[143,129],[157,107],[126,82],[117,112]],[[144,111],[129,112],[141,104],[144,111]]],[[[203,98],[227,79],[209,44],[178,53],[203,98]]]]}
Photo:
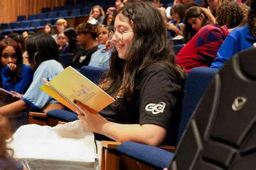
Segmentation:
{"type": "Polygon", "coordinates": [[[78,115],[84,126],[92,132],[103,134],[116,141],[134,141],[146,145],[160,145],[166,135],[164,127],[153,124],[117,124],[107,121],[100,114],[92,114],[77,101],[77,106],[84,111],[85,116],[78,115]]]}

